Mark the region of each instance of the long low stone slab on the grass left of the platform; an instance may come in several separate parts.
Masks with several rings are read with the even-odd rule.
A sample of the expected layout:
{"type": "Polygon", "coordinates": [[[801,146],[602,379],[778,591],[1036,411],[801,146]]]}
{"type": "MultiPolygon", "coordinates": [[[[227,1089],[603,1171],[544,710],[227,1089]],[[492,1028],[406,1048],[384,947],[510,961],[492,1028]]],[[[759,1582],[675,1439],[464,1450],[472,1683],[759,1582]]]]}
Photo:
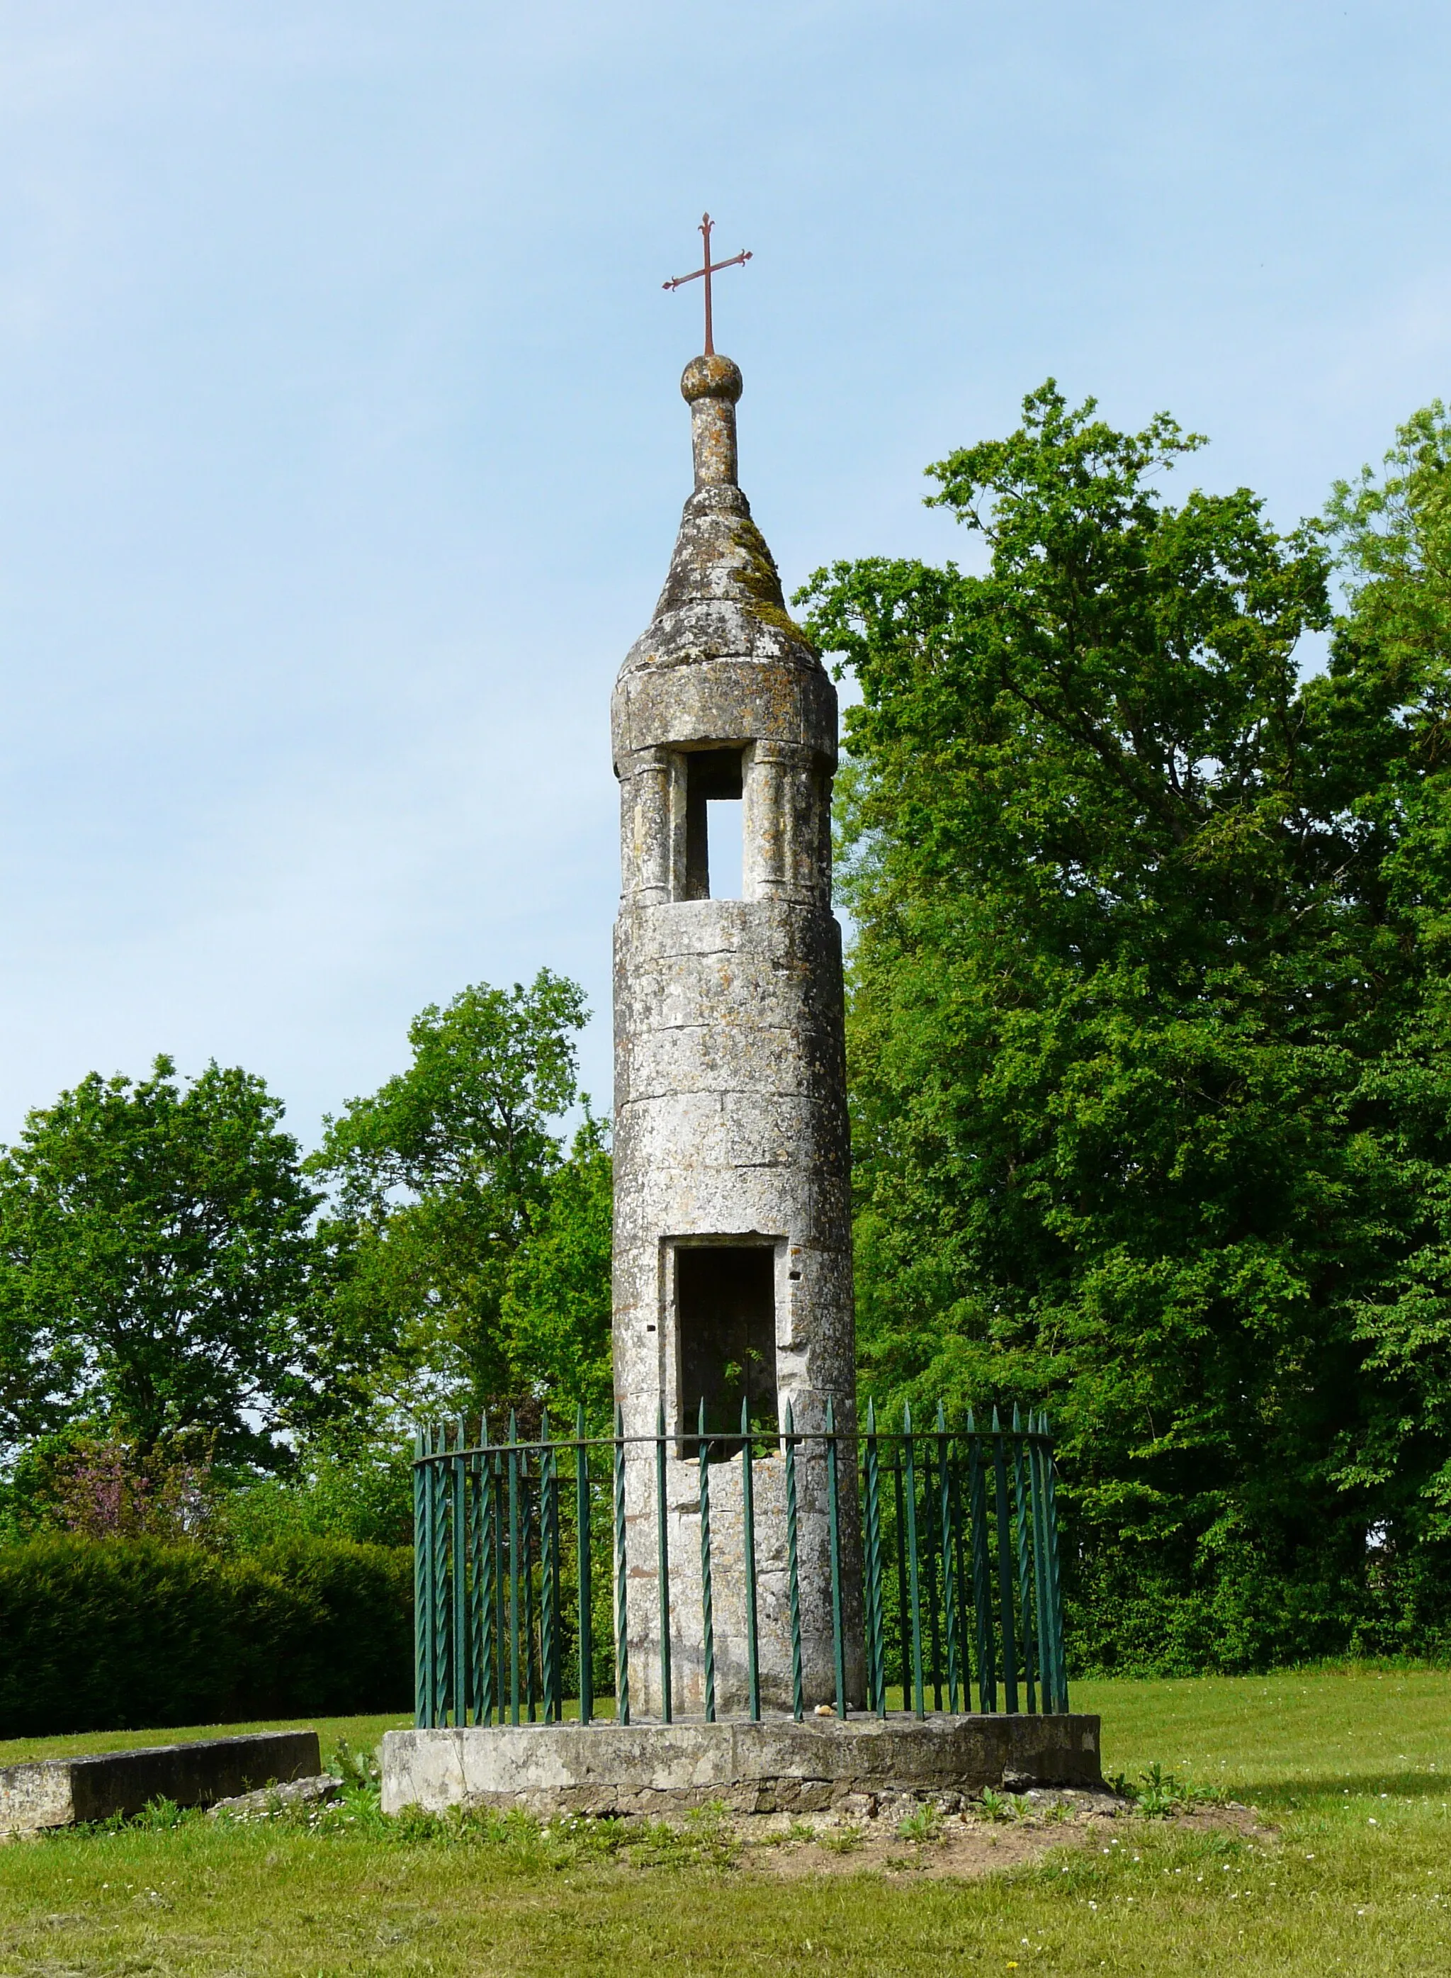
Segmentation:
{"type": "Polygon", "coordinates": [[[148,1800],[212,1806],[257,1786],[316,1776],[316,1731],[253,1731],[0,1768],[0,1836],[138,1814],[148,1800]]]}

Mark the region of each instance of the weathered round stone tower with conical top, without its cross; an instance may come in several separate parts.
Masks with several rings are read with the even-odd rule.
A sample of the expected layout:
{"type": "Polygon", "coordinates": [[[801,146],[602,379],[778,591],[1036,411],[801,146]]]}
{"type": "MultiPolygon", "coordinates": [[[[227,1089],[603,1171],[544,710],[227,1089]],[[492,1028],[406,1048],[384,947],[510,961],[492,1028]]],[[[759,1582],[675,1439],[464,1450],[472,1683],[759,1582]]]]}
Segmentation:
{"type": "MultiPolygon", "coordinates": [[[[670,576],[615,684],[621,908],[615,924],[615,1391],[625,1432],[664,1406],[676,1715],[702,1707],[698,1406],[712,1452],[716,1701],[745,1705],[739,1410],[854,1430],[842,944],[830,910],[836,692],[787,615],[735,481],[729,358],[694,358],[696,487],[670,576]],[[720,811],[712,817],[712,807],[720,811]],[[710,839],[737,819],[741,896],[712,892],[710,839]],[[737,1428],[731,1442],[726,1434],[737,1428]]],[[[720,843],[720,839],[718,839],[720,843]]],[[[860,1535],[842,1456],[848,1697],[860,1701],[860,1535]]],[[[757,1444],[759,1667],[791,1703],[785,1487],[757,1444]]],[[[820,1444],[799,1452],[807,1707],[834,1695],[820,1444]]],[[[627,1460],[629,1662],[660,1711],[654,1450],[627,1460]]]]}

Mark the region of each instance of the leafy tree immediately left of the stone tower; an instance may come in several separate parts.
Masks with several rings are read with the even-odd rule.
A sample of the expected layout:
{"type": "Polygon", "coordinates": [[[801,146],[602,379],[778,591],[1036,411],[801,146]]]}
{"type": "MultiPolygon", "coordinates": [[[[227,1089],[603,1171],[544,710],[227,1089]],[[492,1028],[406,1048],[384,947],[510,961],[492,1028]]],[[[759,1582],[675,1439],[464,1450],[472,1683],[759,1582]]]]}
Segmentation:
{"type": "Polygon", "coordinates": [[[350,1246],[340,1298],[354,1329],[387,1337],[407,1404],[530,1408],[557,1381],[593,1394],[609,1155],[595,1122],[569,1159],[555,1131],[581,1098],[585,1017],[583,993],[548,969],[528,989],[478,983],[429,1005],[411,1066],[326,1124],[308,1165],[334,1183],[330,1226],[350,1246]]]}

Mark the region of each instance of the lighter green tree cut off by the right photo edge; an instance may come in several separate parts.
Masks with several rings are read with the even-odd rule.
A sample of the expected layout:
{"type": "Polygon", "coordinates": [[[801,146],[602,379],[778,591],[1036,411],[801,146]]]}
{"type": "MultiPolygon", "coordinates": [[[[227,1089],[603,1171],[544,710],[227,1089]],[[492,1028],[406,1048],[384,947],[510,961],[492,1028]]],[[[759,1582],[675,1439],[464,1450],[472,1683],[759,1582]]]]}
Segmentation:
{"type": "MultiPolygon", "coordinates": [[[[1368,1371],[1388,1385],[1348,1478],[1384,1507],[1390,1561],[1451,1537],[1451,415],[1437,400],[1396,435],[1382,475],[1336,483],[1344,570],[1328,676],[1313,696],[1340,744],[1338,799],[1384,845],[1398,940],[1394,1038],[1364,1102],[1388,1122],[1402,1179],[1390,1272],[1354,1305],[1368,1371]]],[[[1415,1569],[1419,1567],[1419,1574],[1415,1569]]]]}

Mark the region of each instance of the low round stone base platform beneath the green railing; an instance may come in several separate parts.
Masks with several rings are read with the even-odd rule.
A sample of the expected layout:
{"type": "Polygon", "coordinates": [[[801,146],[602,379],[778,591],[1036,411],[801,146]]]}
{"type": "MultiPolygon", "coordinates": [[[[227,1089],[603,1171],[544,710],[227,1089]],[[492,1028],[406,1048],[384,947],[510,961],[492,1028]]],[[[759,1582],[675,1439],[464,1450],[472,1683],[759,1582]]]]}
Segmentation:
{"type": "Polygon", "coordinates": [[[384,1812],[820,1812],[860,1794],[1097,1786],[1097,1717],[850,1717],[389,1731],[384,1812]]]}

